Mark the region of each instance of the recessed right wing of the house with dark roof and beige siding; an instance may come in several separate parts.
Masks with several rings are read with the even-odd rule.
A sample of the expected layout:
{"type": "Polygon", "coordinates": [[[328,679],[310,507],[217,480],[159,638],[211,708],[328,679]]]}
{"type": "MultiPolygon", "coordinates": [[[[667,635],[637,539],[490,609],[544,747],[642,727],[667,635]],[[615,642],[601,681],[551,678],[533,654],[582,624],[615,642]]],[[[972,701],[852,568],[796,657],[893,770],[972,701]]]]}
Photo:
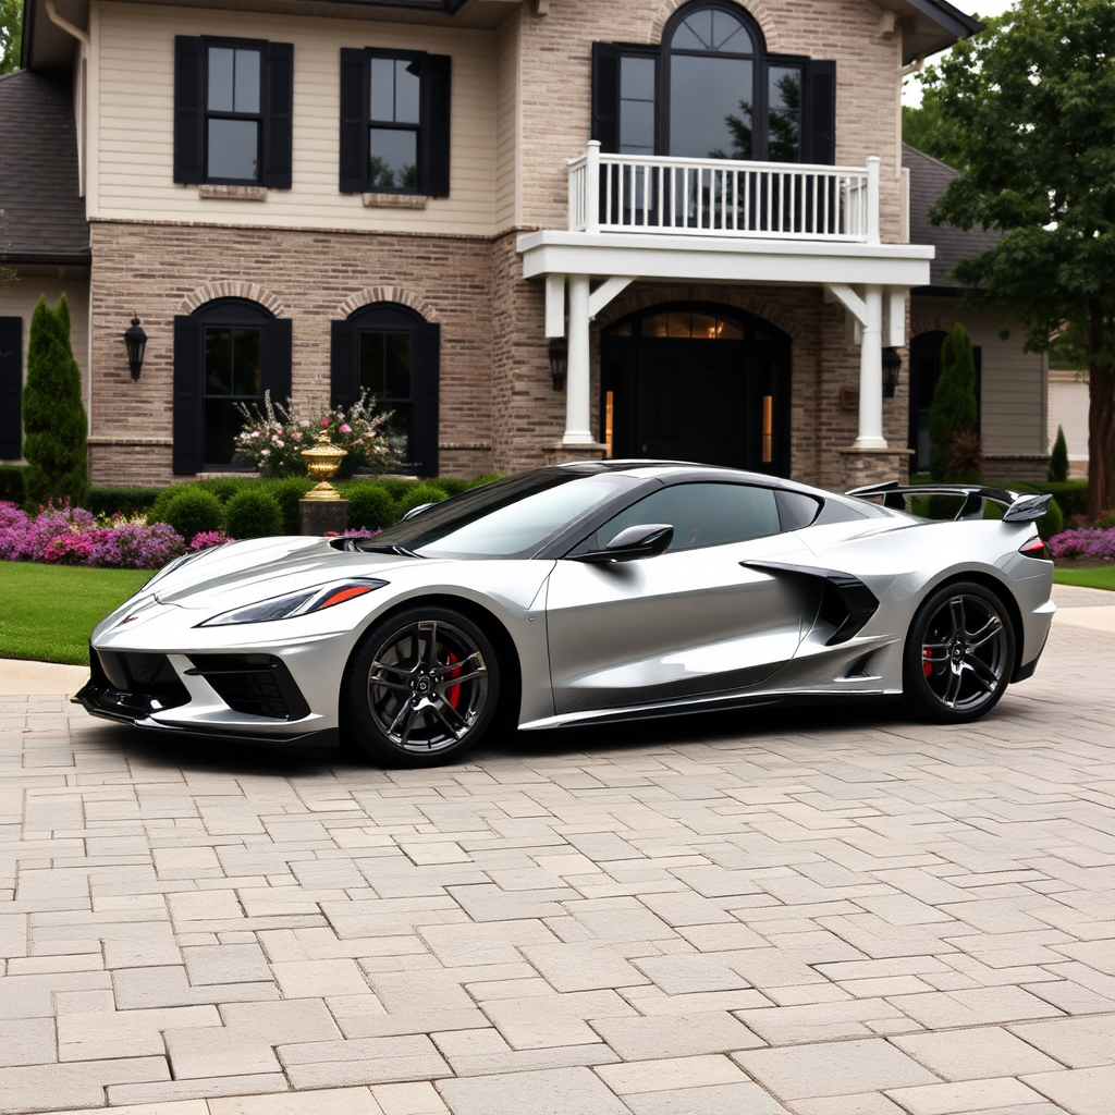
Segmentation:
{"type": "Polygon", "coordinates": [[[961,307],[963,289],[949,278],[962,259],[992,248],[998,234],[930,224],[927,214],[959,172],[905,144],[902,162],[910,174],[911,239],[937,249],[929,283],[910,292],[910,469],[929,471],[929,408],[941,372],[941,342],[959,322],[976,350],[983,474],[1001,484],[1044,481],[1049,463],[1046,353],[1024,350],[1020,322],[961,307]]]}

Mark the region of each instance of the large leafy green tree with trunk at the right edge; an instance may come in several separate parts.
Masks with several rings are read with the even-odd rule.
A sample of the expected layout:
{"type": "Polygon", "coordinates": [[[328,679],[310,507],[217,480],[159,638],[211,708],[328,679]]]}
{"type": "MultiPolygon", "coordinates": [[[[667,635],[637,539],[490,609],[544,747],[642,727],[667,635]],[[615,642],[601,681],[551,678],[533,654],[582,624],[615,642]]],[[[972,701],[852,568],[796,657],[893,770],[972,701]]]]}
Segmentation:
{"type": "Polygon", "coordinates": [[[967,161],[930,216],[1000,230],[960,263],[966,302],[1019,319],[1027,348],[1085,326],[1088,514],[1115,504],[1115,4],[1019,0],[958,43],[933,88],[967,161]]]}

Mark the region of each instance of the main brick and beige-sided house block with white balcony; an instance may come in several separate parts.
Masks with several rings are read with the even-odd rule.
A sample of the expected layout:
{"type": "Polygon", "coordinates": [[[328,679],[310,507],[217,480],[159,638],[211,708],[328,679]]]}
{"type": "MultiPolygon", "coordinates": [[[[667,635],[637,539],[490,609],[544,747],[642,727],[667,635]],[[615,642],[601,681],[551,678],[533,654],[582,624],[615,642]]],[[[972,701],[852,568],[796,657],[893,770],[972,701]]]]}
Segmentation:
{"type": "Polygon", "coordinates": [[[980,26],[946,0],[26,0],[25,69],[72,88],[94,482],[227,469],[234,403],[361,389],[423,475],[904,476],[883,353],[933,250],[904,235],[899,89],[980,26]]]}

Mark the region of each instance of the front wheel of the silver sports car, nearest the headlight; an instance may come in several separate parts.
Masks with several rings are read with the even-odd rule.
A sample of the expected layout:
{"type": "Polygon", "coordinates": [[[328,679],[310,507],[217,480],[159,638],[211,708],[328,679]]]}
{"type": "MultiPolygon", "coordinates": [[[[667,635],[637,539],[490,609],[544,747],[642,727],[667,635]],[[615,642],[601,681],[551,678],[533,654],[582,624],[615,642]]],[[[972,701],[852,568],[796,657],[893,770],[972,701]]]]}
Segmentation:
{"type": "Polygon", "coordinates": [[[372,626],[341,688],[348,744],[387,766],[430,767],[485,736],[500,704],[500,663],[484,631],[452,608],[416,607],[372,626]]]}

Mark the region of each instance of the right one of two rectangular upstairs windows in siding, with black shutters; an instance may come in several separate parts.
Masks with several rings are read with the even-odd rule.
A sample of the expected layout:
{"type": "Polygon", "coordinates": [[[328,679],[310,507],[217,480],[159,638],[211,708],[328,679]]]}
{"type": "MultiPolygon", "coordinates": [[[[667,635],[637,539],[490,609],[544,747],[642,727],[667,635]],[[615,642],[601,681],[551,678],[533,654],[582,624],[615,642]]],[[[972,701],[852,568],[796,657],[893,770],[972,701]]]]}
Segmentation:
{"type": "Polygon", "coordinates": [[[449,193],[450,59],[341,51],[341,193],[449,193]]]}

